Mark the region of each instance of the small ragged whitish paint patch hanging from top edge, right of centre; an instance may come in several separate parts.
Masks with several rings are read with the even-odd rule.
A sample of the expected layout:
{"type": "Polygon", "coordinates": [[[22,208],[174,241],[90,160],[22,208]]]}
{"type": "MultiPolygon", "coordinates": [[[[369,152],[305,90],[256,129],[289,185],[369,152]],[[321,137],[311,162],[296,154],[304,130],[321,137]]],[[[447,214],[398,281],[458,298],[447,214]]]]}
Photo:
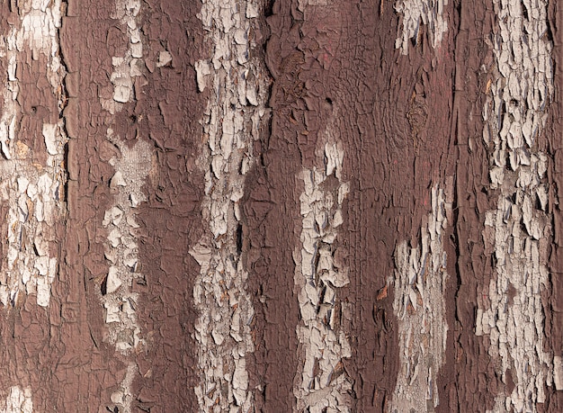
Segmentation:
{"type": "Polygon", "coordinates": [[[401,54],[407,55],[408,41],[419,42],[421,24],[427,27],[432,47],[437,48],[448,31],[448,23],[443,18],[443,8],[447,4],[448,0],[397,0],[395,11],[401,15],[399,26],[403,31],[395,40],[395,49],[401,49],[401,54]]]}

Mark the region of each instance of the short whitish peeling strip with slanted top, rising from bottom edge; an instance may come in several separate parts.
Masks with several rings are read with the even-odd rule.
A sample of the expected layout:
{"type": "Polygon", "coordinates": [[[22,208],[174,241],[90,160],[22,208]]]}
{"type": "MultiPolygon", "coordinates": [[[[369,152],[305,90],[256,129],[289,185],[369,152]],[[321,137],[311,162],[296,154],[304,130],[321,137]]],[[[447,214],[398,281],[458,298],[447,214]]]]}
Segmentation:
{"type": "Polygon", "coordinates": [[[452,180],[444,191],[432,188],[432,211],[423,220],[418,247],[397,247],[395,301],[400,367],[390,411],[433,411],[439,404],[437,376],[444,364],[447,216],[451,216],[452,180]],[[428,408],[428,405],[432,409],[428,408]]]}

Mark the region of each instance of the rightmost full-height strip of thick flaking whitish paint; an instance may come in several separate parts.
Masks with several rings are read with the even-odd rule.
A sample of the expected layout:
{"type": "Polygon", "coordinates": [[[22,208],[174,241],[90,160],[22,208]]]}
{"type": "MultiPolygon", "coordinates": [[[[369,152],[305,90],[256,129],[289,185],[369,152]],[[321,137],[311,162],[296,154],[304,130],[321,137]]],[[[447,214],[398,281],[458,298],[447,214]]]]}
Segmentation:
{"type": "MultiPolygon", "coordinates": [[[[553,93],[547,1],[495,0],[498,28],[490,38],[496,70],[483,110],[496,209],[487,211],[483,239],[495,276],[479,294],[478,336],[490,340],[501,389],[495,412],[535,412],[552,384],[552,356],[543,347],[541,291],[548,282],[551,219],[547,213],[548,157],[534,145],[553,93]]],[[[556,377],[558,372],[555,373],[556,377]]]]}

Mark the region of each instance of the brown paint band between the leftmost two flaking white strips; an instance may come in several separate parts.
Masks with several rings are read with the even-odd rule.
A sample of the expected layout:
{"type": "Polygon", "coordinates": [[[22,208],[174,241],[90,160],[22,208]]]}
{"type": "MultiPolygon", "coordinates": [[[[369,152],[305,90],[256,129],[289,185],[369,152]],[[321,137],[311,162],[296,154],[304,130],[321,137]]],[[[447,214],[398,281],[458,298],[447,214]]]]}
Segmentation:
{"type": "Polygon", "coordinates": [[[60,302],[59,340],[63,346],[55,369],[58,398],[52,406],[76,411],[112,407],[110,395],[125,374],[123,361],[104,342],[105,314],[98,298],[108,271],[101,222],[112,203],[108,184],[112,166],[103,157],[105,124],[110,116],[102,111],[98,90],[108,86],[109,76],[104,74],[112,70],[112,55],[104,40],[115,23],[111,19],[115,5],[109,1],[84,5],[85,9],[64,19],[60,31],[63,58],[77,84],[71,85],[76,100],[65,112],[65,123],[71,125],[67,126],[68,148],[72,148],[67,165],[76,172],[67,184],[64,261],[53,285],[53,295],[60,302]]]}

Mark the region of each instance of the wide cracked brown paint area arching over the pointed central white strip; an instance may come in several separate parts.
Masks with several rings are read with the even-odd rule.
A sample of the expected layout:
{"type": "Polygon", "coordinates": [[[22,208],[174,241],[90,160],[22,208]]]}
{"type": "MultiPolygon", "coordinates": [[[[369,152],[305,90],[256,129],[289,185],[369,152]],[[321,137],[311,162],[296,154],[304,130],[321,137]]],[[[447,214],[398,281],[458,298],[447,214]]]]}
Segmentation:
{"type": "MultiPolygon", "coordinates": [[[[394,390],[398,355],[393,294],[376,298],[392,274],[395,246],[406,238],[416,243],[421,217],[429,210],[428,188],[452,175],[450,157],[442,157],[450,144],[449,127],[443,124],[451,116],[451,96],[439,93],[451,90],[447,46],[435,51],[439,60],[435,67],[434,52],[424,41],[409,57],[399,57],[394,48],[396,15],[380,16],[375,4],[329,3],[308,6],[302,13],[297,2],[275,2],[268,17],[272,134],[261,148],[264,165],[256,172],[267,181],[262,190],[257,188],[259,177],[258,185],[248,185],[246,206],[268,202],[267,214],[254,214],[256,218],[249,220],[262,221],[257,229],[250,225],[249,232],[250,254],[263,263],[254,274],[266,272],[255,287],[266,300],[264,345],[256,352],[268,366],[263,367],[264,411],[291,408],[299,364],[286,350],[295,346],[291,326],[297,308],[287,292],[292,288],[292,269],[283,263],[299,240],[291,231],[299,206],[290,202],[297,195],[295,189],[283,183],[290,183],[301,166],[312,166],[318,135],[325,130],[333,105],[345,108],[336,124],[346,152],[345,179],[353,188],[343,230],[352,278],[346,299],[353,304],[353,322],[346,326],[353,357],[344,368],[354,379],[353,409],[383,409],[394,390]],[[405,64],[394,64],[401,59],[405,64]],[[433,113],[431,119],[428,112],[433,113]],[[281,228],[275,240],[269,237],[272,226],[281,228]],[[269,373],[273,371],[275,375],[269,373]]],[[[255,308],[260,308],[259,300],[255,308]]]]}

